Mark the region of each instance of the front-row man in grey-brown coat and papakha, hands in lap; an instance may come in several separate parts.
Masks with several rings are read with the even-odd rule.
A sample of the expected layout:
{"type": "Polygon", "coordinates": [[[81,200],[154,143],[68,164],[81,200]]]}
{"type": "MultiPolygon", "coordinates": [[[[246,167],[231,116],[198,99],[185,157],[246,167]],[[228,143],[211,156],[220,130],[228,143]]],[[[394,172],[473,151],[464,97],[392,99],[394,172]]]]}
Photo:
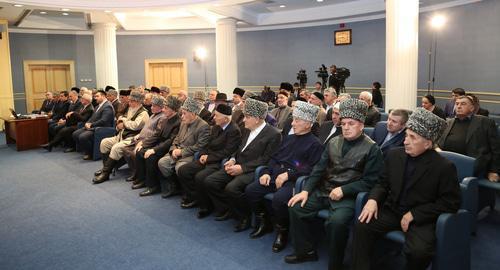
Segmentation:
{"type": "Polygon", "coordinates": [[[181,126],[168,154],[158,160],[158,169],[163,178],[162,197],[168,198],[180,193],[176,172],[193,161],[194,153],[203,149],[210,137],[210,127],[198,116],[203,104],[187,98],[181,107],[181,126]],[[164,189],[166,188],[166,189],[164,189]]]}

